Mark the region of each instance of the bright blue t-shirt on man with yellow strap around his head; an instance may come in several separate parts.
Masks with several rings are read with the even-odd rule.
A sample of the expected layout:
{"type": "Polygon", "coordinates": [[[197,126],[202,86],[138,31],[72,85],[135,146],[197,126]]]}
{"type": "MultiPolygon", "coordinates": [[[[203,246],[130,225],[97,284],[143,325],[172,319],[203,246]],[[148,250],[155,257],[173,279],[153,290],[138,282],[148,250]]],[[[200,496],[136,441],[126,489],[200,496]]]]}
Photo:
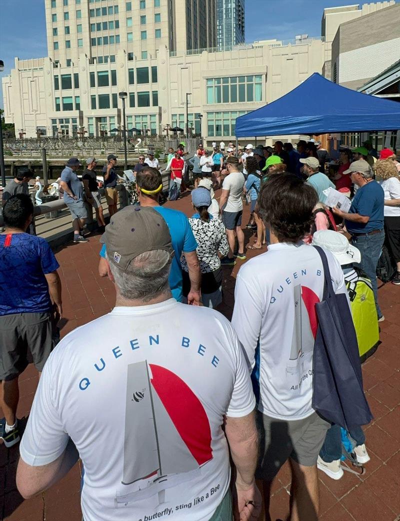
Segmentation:
{"type": "MultiPolygon", "coordinates": [[[[169,282],[172,296],[180,302],[182,301],[182,268],[180,267],[180,257],[182,253],[195,251],[197,242],[190,227],[189,220],[184,213],[171,208],[164,208],[163,206],[152,206],[152,208],[161,214],[170,229],[175,256],[172,259],[169,282]]],[[[101,248],[100,256],[106,256],[105,244],[103,244],[101,248]]]]}

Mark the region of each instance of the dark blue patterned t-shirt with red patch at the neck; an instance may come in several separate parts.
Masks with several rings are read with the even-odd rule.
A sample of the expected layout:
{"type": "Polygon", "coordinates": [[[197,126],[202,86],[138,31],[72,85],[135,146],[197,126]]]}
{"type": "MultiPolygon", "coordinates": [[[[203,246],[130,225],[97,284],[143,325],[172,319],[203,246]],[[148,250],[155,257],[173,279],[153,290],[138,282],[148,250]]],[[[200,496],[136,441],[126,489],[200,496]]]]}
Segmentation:
{"type": "Polygon", "coordinates": [[[49,312],[45,274],[58,268],[54,253],[41,237],[0,234],[0,315],[49,312]]]}

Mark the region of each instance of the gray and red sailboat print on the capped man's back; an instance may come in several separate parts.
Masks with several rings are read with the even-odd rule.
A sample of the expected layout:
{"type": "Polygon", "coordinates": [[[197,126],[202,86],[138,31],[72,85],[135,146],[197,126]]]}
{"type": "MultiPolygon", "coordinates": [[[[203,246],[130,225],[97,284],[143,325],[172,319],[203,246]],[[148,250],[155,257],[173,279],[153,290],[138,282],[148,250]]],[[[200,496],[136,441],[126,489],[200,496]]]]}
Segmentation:
{"type": "Polygon", "coordinates": [[[123,485],[134,483],[138,499],[161,482],[174,486],[170,476],[196,471],[212,457],[210,423],[189,386],[165,367],[128,365],[123,485]]]}

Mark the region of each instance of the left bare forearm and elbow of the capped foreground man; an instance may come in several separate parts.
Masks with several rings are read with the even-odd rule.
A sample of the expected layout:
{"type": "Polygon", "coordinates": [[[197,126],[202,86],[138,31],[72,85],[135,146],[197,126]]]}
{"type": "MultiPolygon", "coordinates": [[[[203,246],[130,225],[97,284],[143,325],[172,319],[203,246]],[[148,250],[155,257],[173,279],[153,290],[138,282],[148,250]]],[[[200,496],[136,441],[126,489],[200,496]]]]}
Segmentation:
{"type": "Polygon", "coordinates": [[[30,499],[38,492],[46,490],[62,479],[78,461],[79,453],[72,440],[57,460],[38,467],[32,467],[22,458],[17,468],[17,488],[25,499],[30,499]]]}

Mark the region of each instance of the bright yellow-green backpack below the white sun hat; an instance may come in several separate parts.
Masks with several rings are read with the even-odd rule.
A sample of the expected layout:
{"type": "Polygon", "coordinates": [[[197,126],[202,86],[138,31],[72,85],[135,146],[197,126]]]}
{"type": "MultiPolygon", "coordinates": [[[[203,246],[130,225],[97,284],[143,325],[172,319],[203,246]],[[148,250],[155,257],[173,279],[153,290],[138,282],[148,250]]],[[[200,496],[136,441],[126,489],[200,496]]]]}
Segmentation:
{"type": "Polygon", "coordinates": [[[371,281],[357,271],[357,279],[346,282],[361,363],[373,355],[380,344],[378,315],[371,281]]]}

